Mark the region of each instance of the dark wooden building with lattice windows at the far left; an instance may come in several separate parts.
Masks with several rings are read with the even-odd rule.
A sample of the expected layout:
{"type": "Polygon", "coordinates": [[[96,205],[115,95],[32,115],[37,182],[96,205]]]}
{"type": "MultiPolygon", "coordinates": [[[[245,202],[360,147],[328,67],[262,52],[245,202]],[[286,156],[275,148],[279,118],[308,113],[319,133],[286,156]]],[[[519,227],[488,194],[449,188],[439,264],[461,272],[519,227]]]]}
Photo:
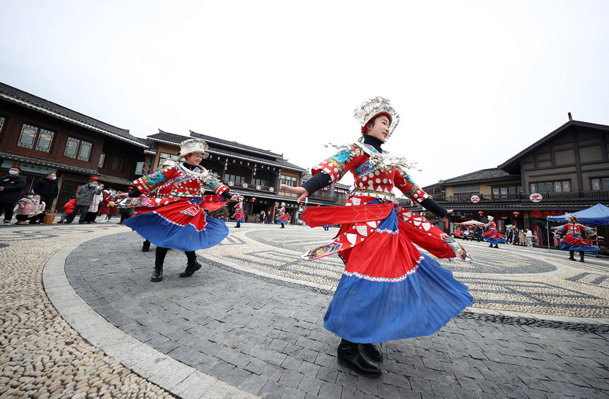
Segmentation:
{"type": "Polygon", "coordinates": [[[147,148],[127,129],[0,83],[0,173],[19,166],[26,191],[56,173],[59,196],[53,208],[59,212],[91,176],[125,190],[142,173],[147,148]]]}

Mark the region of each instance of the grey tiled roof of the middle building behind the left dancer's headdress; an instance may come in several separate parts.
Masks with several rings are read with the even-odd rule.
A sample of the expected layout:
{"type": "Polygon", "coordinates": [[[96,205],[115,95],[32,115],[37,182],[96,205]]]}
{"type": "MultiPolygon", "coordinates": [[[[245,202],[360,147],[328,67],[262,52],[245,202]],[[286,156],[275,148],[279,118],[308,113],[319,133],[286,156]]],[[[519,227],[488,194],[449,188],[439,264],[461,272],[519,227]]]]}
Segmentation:
{"type": "MultiPolygon", "coordinates": [[[[222,148],[222,146],[226,146],[226,144],[221,144],[221,146],[217,144],[220,142],[220,139],[215,139],[214,137],[211,137],[211,139],[208,139],[208,137],[210,137],[210,136],[205,136],[205,134],[198,134],[198,133],[195,133],[192,131],[190,132],[190,134],[191,134],[190,137],[198,137],[200,139],[205,140],[205,142],[210,146],[210,148],[208,150],[210,154],[230,156],[232,158],[242,159],[244,161],[249,161],[249,162],[254,162],[254,163],[261,163],[264,165],[275,166],[277,168],[289,168],[292,170],[299,170],[299,171],[305,170],[305,168],[301,168],[300,166],[297,166],[297,165],[294,165],[293,163],[285,161],[281,155],[273,154],[270,151],[259,150],[259,151],[264,151],[264,152],[258,152],[257,154],[264,154],[266,156],[265,158],[262,158],[261,156],[256,156],[254,154],[254,151],[238,152],[241,150],[241,144],[237,143],[236,141],[230,141],[230,143],[232,143],[232,144],[231,144],[231,146],[229,146],[229,148],[231,148],[231,149],[226,149],[226,148],[222,148]],[[232,151],[232,149],[234,149],[235,151],[232,151]]],[[[148,139],[178,146],[182,141],[189,139],[190,137],[185,137],[185,136],[181,136],[179,134],[164,132],[161,129],[159,129],[159,133],[148,136],[148,139]]],[[[226,141],[226,140],[222,140],[222,141],[226,141]]],[[[244,146],[244,147],[248,147],[248,146],[244,146]]],[[[251,149],[253,147],[249,147],[249,148],[251,149]]]]}

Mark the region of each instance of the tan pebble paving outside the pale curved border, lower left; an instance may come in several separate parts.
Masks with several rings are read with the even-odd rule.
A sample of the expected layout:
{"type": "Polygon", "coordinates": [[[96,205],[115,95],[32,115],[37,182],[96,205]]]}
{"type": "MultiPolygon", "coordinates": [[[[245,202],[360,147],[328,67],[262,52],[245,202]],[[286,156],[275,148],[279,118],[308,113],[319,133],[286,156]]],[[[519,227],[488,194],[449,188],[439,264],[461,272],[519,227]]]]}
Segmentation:
{"type": "Polygon", "coordinates": [[[83,340],[42,287],[42,267],[60,246],[125,229],[0,229],[0,398],[173,398],[83,340]]]}

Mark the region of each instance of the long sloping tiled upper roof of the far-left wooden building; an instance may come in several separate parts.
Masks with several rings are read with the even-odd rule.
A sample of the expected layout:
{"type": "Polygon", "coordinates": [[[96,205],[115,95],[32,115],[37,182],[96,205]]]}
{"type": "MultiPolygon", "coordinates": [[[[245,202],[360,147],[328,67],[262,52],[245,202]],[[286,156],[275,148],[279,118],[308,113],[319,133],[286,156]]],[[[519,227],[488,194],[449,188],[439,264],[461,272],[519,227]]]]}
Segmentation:
{"type": "Polygon", "coordinates": [[[114,137],[115,139],[119,139],[121,141],[127,141],[128,143],[135,144],[136,146],[143,148],[147,147],[147,144],[144,143],[143,139],[132,136],[127,129],[120,129],[120,127],[108,125],[106,122],[93,119],[92,117],[83,115],[80,112],[70,110],[62,105],[52,103],[49,100],[34,96],[33,94],[26,93],[25,91],[21,91],[18,88],[8,86],[7,84],[1,82],[0,99],[18,105],[23,105],[30,109],[51,115],[52,117],[57,117],[60,120],[73,123],[74,125],[86,127],[94,132],[98,132],[109,137],[114,137]]]}

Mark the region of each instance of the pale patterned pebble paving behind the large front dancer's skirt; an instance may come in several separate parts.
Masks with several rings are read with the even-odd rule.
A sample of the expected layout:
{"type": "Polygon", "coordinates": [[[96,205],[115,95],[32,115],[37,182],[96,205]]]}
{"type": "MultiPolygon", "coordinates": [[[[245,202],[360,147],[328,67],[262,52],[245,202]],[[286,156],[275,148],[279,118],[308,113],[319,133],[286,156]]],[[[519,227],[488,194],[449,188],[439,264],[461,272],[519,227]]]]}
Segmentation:
{"type": "MultiPolygon", "coordinates": [[[[275,226],[245,224],[232,239],[241,238],[246,243],[228,246],[223,242],[206,253],[271,274],[336,287],[343,272],[338,256],[308,262],[299,255],[331,241],[338,229],[288,228],[286,232],[275,226]],[[249,231],[245,230],[248,227],[249,231]],[[256,245],[259,243],[268,245],[268,250],[256,245]]],[[[568,260],[569,253],[562,250],[548,253],[518,245],[499,245],[496,249],[484,242],[460,243],[472,254],[472,264],[438,261],[467,284],[474,307],[609,318],[609,260],[586,257],[581,263],[568,260]]]]}

